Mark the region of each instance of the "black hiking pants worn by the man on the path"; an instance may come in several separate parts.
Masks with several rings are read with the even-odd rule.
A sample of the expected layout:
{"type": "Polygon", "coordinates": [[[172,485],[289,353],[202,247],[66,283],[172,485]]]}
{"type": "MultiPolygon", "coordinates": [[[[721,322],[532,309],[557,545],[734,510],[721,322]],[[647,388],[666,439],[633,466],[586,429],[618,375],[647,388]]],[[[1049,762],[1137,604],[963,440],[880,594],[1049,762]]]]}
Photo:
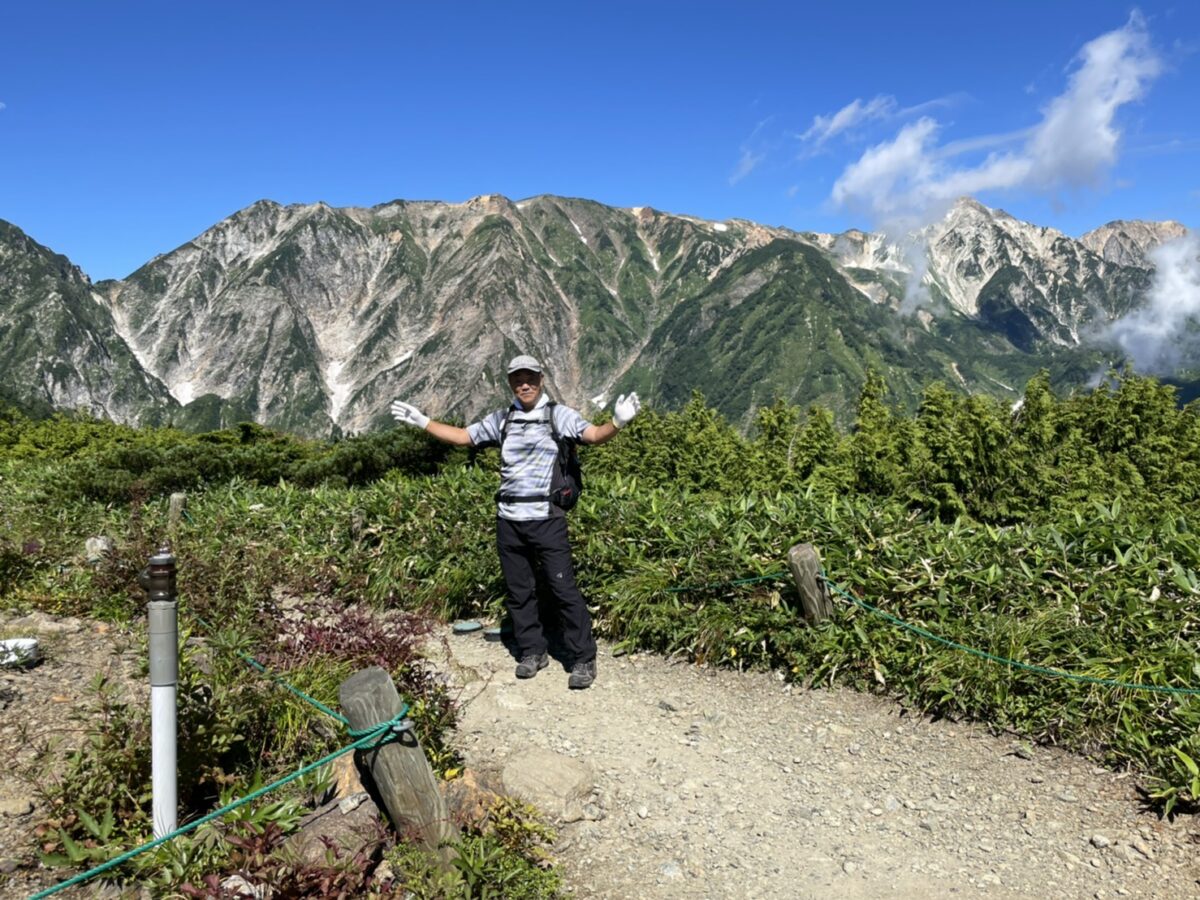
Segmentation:
{"type": "Polygon", "coordinates": [[[536,569],[550,586],[563,623],[563,642],[574,662],[596,655],[592,637],[592,616],[575,584],[566,517],[536,518],[529,522],[496,520],[496,545],[500,570],[509,588],[506,606],[512,616],[514,637],[521,656],[546,652],[546,635],[538,618],[536,569]],[[536,566],[536,569],[535,569],[536,566]]]}

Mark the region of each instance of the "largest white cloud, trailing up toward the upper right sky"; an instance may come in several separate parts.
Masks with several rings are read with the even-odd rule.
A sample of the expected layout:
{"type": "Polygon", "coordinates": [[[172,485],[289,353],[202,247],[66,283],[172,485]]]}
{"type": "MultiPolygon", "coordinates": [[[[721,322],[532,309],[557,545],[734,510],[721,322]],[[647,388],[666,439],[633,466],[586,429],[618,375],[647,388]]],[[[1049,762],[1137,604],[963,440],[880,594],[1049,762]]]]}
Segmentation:
{"type": "Polygon", "coordinates": [[[941,144],[941,126],[923,116],[847,166],[834,184],[833,202],[895,233],[934,221],[962,194],[1054,193],[1100,184],[1117,158],[1117,110],[1145,94],[1162,62],[1145,20],[1134,13],[1123,28],[1085,44],[1075,64],[1067,89],[1031,128],[941,144]],[[998,149],[1012,143],[1020,146],[998,149]],[[997,149],[974,164],[956,162],[989,148],[997,149]]]}

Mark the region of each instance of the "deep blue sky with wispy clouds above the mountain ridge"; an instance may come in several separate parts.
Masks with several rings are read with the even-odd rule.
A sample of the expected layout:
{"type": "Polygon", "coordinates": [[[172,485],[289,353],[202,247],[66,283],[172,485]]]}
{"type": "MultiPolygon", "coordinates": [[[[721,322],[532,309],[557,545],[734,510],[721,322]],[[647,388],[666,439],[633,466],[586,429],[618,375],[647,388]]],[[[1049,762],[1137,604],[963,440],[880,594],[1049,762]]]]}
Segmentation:
{"type": "Polygon", "coordinates": [[[1194,2],[11,4],[0,218],[96,280],[260,198],[1196,228],[1198,89],[1194,2]]]}

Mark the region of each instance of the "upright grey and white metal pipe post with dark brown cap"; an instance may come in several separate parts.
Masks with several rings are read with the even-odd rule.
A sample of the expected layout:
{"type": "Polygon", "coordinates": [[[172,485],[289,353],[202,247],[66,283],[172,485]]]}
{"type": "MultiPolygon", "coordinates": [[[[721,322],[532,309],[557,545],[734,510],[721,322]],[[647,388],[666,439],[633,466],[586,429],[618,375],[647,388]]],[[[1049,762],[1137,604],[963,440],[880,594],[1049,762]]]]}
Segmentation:
{"type": "Polygon", "coordinates": [[[175,830],[176,785],[175,685],[179,682],[179,613],[175,557],[163,546],[138,575],[146,592],[150,618],[150,772],[154,790],[154,836],[175,830]]]}

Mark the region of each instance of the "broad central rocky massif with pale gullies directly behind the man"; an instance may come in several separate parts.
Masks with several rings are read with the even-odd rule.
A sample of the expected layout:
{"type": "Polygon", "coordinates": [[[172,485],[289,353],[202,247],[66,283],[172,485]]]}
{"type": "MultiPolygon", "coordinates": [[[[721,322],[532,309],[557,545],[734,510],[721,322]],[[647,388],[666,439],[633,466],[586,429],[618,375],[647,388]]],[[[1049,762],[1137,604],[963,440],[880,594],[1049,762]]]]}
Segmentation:
{"type": "Polygon", "coordinates": [[[572,403],[606,397],[653,329],[761,229],[539,197],[372,209],[257,203],[104,289],[174,398],[288,428],[368,427],[406,396],[503,402],[535,353],[572,403]]]}

